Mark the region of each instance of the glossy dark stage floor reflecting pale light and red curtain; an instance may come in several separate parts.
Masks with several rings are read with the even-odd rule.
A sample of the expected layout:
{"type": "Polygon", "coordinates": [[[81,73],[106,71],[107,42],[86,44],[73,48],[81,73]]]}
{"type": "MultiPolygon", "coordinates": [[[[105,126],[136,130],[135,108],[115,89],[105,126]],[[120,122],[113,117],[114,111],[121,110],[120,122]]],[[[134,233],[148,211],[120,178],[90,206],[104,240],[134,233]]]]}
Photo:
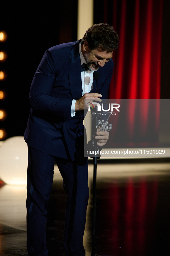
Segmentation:
{"type": "MultiPolygon", "coordinates": [[[[56,168],[56,167],[55,167],[56,168]]],[[[84,246],[91,255],[92,170],[84,246]]],[[[25,187],[0,188],[1,256],[26,251],[25,187]]],[[[49,201],[49,256],[65,255],[62,245],[66,194],[58,173],[49,201]]],[[[96,255],[170,255],[170,164],[98,164],[96,255]]]]}

